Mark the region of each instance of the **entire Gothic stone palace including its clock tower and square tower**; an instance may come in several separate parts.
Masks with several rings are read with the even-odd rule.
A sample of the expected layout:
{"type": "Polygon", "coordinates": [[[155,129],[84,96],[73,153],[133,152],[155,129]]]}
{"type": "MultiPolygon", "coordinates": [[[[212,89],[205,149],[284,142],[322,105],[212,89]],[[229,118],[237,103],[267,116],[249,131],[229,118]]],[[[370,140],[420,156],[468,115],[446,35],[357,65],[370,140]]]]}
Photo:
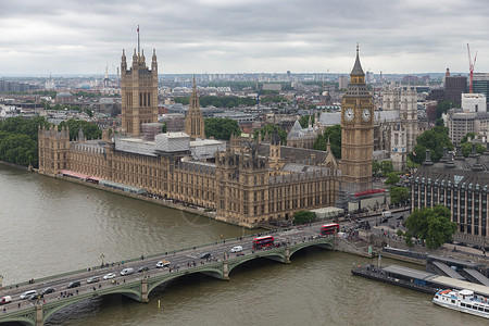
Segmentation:
{"type": "Polygon", "coordinates": [[[373,134],[372,98],[362,74],[356,55],[354,82],[343,108],[346,160],[338,162],[329,148],[283,146],[278,135],[271,135],[267,142],[261,137],[234,137],[227,143],[204,139],[195,83],[185,133],[161,134],[156,54],[153,50],[150,70],[145,53],[135,50],[128,68],[123,51],[120,131],[103,130],[102,139],[86,140],[79,130],[78,138],[70,140],[67,129],[39,128],[39,173],[83,174],[143,188],[165,199],[215,210],[217,220],[244,227],[292,220],[300,210],[334,206],[342,187],[372,185],[366,171],[372,164],[367,143],[373,134]],[[341,171],[346,171],[343,177],[341,171]]]}

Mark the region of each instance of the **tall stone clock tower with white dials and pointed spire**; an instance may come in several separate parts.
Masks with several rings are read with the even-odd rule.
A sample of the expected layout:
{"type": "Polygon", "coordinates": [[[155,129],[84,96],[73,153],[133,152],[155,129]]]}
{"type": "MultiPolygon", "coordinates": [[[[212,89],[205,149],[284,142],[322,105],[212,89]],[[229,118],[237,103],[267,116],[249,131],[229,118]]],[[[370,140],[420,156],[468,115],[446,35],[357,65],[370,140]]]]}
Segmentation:
{"type": "Polygon", "coordinates": [[[374,105],[365,85],[365,74],[356,60],[350,84],[341,101],[341,189],[356,192],[372,189],[374,151],[374,105]]]}

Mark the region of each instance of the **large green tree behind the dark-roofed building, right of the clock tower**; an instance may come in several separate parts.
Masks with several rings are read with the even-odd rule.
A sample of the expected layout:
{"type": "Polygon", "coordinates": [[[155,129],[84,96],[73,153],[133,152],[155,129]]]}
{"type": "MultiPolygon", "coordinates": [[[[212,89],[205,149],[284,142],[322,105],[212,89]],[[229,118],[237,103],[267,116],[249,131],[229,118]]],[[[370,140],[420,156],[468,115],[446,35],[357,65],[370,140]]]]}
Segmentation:
{"type": "Polygon", "coordinates": [[[449,138],[449,129],[447,127],[435,127],[424,131],[416,138],[416,147],[414,153],[410,153],[409,158],[413,163],[422,164],[426,158],[426,150],[431,152],[431,161],[437,163],[443,155],[443,147],[453,150],[453,143],[449,138]]]}

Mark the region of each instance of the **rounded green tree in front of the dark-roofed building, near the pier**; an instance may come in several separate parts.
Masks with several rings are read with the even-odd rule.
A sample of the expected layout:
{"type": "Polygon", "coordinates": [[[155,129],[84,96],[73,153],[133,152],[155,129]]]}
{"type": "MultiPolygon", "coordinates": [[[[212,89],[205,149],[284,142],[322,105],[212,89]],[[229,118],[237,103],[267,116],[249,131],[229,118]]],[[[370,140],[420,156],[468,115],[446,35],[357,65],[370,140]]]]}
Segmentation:
{"type": "Polygon", "coordinates": [[[451,222],[450,216],[450,210],[441,205],[415,209],[406,218],[405,226],[410,235],[426,241],[428,248],[437,249],[451,241],[456,231],[456,223],[451,222]]]}

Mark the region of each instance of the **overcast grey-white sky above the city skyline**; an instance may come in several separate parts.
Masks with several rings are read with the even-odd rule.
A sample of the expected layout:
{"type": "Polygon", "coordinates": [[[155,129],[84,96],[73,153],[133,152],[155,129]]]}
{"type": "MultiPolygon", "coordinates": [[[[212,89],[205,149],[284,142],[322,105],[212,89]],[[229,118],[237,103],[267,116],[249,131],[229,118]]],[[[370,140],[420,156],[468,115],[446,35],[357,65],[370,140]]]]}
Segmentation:
{"type": "Polygon", "coordinates": [[[115,73],[140,25],[159,73],[489,72],[485,0],[0,0],[0,76],[115,73]]]}

